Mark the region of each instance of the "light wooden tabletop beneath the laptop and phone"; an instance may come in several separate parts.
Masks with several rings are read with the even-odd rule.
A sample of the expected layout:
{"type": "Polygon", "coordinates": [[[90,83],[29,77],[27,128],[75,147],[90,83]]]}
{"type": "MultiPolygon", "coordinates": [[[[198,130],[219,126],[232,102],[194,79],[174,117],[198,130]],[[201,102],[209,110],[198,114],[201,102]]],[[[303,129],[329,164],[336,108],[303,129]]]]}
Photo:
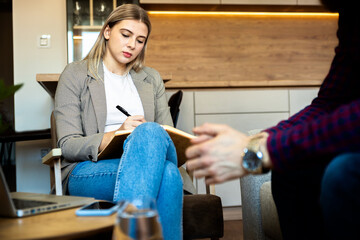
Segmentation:
{"type": "Polygon", "coordinates": [[[78,217],[77,208],[24,218],[0,218],[0,239],[110,239],[116,214],[78,217]]]}

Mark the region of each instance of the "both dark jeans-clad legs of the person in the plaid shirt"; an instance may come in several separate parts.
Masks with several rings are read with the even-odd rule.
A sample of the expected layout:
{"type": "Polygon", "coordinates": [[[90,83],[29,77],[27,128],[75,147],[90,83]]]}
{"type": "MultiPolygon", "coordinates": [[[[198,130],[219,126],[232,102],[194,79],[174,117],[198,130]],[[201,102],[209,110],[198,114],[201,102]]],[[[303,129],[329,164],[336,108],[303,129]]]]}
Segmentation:
{"type": "Polygon", "coordinates": [[[283,239],[359,239],[360,153],[316,160],[307,169],[272,172],[283,239]]]}

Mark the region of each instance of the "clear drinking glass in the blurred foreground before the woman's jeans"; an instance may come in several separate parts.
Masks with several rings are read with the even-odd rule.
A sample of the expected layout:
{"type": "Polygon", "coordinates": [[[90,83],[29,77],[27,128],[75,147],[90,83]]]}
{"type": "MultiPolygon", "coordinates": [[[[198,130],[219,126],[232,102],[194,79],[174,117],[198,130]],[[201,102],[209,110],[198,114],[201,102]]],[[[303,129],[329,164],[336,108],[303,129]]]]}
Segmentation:
{"type": "Polygon", "coordinates": [[[162,240],[162,229],[154,199],[121,201],[113,240],[162,240]]]}

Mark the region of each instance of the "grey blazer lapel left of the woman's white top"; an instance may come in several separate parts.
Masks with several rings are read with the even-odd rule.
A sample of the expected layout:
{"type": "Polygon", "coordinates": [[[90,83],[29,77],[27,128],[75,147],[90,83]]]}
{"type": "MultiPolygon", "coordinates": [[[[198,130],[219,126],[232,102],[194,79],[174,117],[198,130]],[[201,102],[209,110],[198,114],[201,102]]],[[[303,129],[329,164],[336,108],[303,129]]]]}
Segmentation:
{"type": "Polygon", "coordinates": [[[88,71],[89,76],[89,91],[91,95],[92,104],[95,110],[95,116],[98,124],[99,132],[103,133],[105,130],[105,122],[106,122],[106,96],[105,96],[105,86],[104,86],[104,69],[102,65],[102,61],[99,64],[99,76],[101,80],[96,80],[95,76],[93,76],[88,71]]]}

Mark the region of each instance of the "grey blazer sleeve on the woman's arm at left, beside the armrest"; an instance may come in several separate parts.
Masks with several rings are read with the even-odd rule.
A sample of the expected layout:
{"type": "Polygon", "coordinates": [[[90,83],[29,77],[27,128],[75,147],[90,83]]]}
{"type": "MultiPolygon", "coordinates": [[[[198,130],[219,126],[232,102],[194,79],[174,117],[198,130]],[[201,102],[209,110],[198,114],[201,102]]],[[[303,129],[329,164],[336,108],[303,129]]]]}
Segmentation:
{"type": "Polygon", "coordinates": [[[81,99],[87,91],[86,78],[87,71],[81,69],[80,64],[70,64],[61,74],[56,89],[54,115],[58,146],[68,162],[97,161],[103,137],[103,133],[86,136],[84,132],[81,99]]]}

